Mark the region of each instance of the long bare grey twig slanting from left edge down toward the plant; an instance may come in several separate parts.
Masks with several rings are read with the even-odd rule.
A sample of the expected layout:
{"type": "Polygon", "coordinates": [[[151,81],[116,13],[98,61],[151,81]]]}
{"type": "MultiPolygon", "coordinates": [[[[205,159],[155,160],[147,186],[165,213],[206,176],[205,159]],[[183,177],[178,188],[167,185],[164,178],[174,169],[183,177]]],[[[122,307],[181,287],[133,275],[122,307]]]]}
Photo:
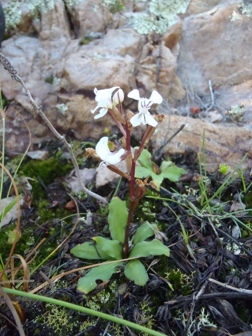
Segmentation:
{"type": "Polygon", "coordinates": [[[75,173],[76,173],[76,176],[77,176],[77,179],[80,183],[80,186],[82,188],[82,190],[88,194],[89,196],[92,196],[94,197],[95,199],[97,199],[98,201],[100,201],[101,203],[103,204],[107,204],[107,200],[104,198],[104,197],[101,197],[100,195],[98,194],[95,194],[93,193],[92,191],[90,191],[89,189],[87,189],[83,182],[82,182],[82,179],[81,179],[81,175],[80,175],[80,169],[79,169],[79,166],[78,166],[78,163],[76,161],[76,158],[74,156],[74,152],[73,152],[73,148],[72,148],[72,145],[70,143],[68,143],[68,141],[66,140],[65,136],[64,135],[60,135],[56,129],[54,128],[54,126],[51,124],[51,122],[48,120],[48,118],[45,116],[45,114],[43,113],[43,111],[41,110],[41,108],[35,103],[34,99],[32,98],[32,95],[26,85],[26,83],[23,81],[23,79],[21,77],[19,77],[17,75],[17,71],[12,67],[10,61],[2,54],[0,53],[0,62],[2,63],[3,67],[5,70],[7,70],[11,77],[14,78],[17,82],[19,82],[23,88],[25,89],[26,91],[26,94],[28,95],[29,97],[29,100],[30,100],[30,104],[33,106],[33,108],[35,109],[35,111],[40,115],[40,117],[44,120],[44,122],[46,123],[46,125],[48,126],[48,128],[51,130],[51,132],[60,140],[62,141],[69,154],[70,154],[70,157],[71,157],[71,161],[73,163],[73,166],[74,166],[74,169],[75,169],[75,173]]]}

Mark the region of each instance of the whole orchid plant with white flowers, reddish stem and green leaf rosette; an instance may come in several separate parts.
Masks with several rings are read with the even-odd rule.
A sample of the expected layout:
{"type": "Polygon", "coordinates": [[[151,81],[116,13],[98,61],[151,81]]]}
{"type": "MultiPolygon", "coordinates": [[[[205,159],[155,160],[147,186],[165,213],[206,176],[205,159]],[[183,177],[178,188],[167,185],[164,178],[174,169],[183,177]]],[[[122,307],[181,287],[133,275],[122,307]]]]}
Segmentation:
{"type": "MultiPolygon", "coordinates": [[[[129,280],[134,281],[136,285],[143,286],[149,278],[139,258],[161,254],[169,256],[169,248],[163,244],[162,235],[159,233],[156,224],[150,224],[149,222],[141,224],[130,239],[130,225],[133,220],[134,210],[139,200],[146,193],[146,185],[157,188],[153,181],[149,181],[149,176],[145,176],[146,172],[142,174],[146,178],[141,180],[140,178],[135,178],[135,171],[136,162],[142,157],[141,153],[144,153],[144,148],[153,135],[158,122],[162,122],[164,119],[164,115],[151,115],[149,111],[153,104],[162,103],[162,96],[154,90],[149,99],[141,98],[139,91],[134,89],[128,93],[128,97],[138,100],[138,113],[133,114],[129,111],[125,114],[122,106],[124,93],[120,87],[115,86],[103,90],[95,88],[94,93],[97,106],[94,110],[91,110],[91,113],[98,112],[98,114],[95,114],[94,119],[99,119],[106,114],[110,115],[122,132],[122,148],[112,153],[108,146],[108,137],[104,136],[96,144],[95,150],[88,148],[86,149],[86,154],[87,157],[96,158],[100,165],[107,166],[108,169],[128,180],[130,201],[128,209],[126,202],[118,197],[112,198],[109,204],[108,222],[112,239],[94,237],[93,242],[78,244],[71,250],[71,253],[79,258],[114,261],[113,263],[101,264],[92,268],[84,277],[79,279],[77,287],[83,293],[93,290],[96,287],[96,280],[109,280],[112,274],[117,272],[118,265],[124,265],[124,274],[129,280]],[[134,127],[140,124],[147,126],[140,146],[132,149],[131,132],[134,127]],[[122,160],[125,160],[127,173],[116,167],[116,164],[122,160]],[[150,239],[154,235],[158,239],[146,241],[146,239],[150,239]],[[126,260],[126,262],[122,260],[128,258],[136,259],[126,260]],[[116,260],[118,262],[115,262],[116,260]]],[[[151,165],[152,163],[150,162],[148,166],[150,170],[151,165]]],[[[150,172],[148,175],[153,174],[150,172]]]]}

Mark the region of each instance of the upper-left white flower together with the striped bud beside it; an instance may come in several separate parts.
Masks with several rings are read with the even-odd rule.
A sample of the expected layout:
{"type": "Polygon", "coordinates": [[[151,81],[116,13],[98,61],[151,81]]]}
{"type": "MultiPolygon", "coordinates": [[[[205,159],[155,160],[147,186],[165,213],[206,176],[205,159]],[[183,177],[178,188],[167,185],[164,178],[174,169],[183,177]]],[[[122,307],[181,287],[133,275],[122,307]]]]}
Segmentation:
{"type": "Polygon", "coordinates": [[[94,88],[95,100],[98,102],[96,108],[91,110],[91,113],[94,113],[98,108],[101,108],[99,114],[94,116],[94,119],[99,119],[103,117],[108,109],[113,109],[113,106],[116,106],[118,103],[121,103],[124,98],[123,90],[120,89],[120,86],[114,86],[110,89],[97,90],[94,88]],[[113,91],[117,90],[112,99],[113,91]]]}

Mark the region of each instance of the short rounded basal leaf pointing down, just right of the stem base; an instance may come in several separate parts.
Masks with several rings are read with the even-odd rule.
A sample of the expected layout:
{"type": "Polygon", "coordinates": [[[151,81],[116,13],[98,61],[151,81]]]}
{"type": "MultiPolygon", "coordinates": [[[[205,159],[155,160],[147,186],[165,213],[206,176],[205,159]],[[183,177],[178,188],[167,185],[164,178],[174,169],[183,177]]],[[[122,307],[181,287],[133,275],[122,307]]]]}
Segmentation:
{"type": "Polygon", "coordinates": [[[145,267],[140,260],[134,259],[124,267],[124,275],[129,280],[134,281],[135,285],[144,286],[149,280],[145,267]]]}

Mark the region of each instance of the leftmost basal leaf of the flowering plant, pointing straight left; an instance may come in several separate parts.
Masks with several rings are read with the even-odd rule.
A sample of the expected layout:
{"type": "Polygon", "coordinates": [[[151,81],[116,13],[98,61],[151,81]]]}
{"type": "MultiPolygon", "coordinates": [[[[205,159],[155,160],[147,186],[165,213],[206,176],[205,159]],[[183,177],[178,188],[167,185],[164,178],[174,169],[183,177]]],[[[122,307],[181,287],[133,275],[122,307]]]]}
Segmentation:
{"type": "Polygon", "coordinates": [[[110,255],[100,249],[94,242],[85,242],[76,245],[70,253],[83,259],[109,259],[110,255]]]}

